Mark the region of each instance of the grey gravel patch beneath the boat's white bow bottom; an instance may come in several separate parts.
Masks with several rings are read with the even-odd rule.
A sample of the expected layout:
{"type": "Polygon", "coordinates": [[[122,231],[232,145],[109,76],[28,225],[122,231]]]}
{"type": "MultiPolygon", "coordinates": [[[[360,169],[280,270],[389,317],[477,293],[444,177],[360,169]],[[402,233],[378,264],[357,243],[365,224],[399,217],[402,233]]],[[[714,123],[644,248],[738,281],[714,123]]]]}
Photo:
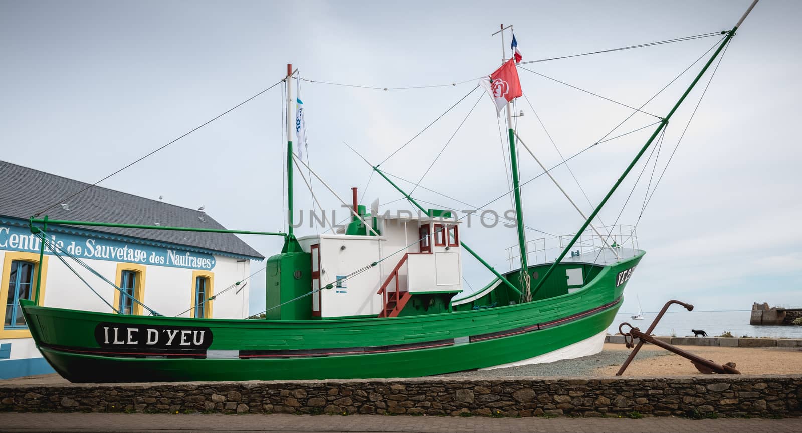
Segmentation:
{"type": "MultiPolygon", "coordinates": [[[[584,356],[577,359],[564,359],[554,363],[497,368],[496,370],[488,371],[460,371],[459,373],[435,377],[508,378],[522,376],[588,376],[593,375],[597,368],[610,366],[620,367],[630,353],[631,351],[602,351],[596,355],[584,356]]],[[[635,359],[643,360],[666,355],[671,354],[667,351],[639,351],[635,359]]]]}

